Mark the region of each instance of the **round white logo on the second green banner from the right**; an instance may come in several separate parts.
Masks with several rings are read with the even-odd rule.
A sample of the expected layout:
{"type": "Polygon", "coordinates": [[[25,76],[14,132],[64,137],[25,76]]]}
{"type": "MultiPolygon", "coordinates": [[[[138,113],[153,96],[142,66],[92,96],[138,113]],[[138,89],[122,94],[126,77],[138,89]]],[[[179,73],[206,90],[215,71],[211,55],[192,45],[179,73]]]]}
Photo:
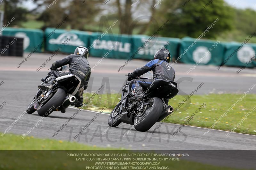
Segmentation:
{"type": "Polygon", "coordinates": [[[212,58],[211,52],[205,46],[199,46],[193,51],[193,60],[196,63],[207,64],[212,58]]]}

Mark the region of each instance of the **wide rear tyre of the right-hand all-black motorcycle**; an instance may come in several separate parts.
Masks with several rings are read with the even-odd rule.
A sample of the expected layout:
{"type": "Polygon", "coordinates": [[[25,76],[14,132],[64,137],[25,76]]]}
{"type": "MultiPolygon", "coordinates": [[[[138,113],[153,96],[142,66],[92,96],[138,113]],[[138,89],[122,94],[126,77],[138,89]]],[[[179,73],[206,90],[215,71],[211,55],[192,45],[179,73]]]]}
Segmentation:
{"type": "Polygon", "coordinates": [[[156,123],[163,109],[163,101],[159,98],[148,99],[146,103],[149,105],[146,106],[144,113],[134,119],[134,128],[141,132],[148,131],[156,123]]]}

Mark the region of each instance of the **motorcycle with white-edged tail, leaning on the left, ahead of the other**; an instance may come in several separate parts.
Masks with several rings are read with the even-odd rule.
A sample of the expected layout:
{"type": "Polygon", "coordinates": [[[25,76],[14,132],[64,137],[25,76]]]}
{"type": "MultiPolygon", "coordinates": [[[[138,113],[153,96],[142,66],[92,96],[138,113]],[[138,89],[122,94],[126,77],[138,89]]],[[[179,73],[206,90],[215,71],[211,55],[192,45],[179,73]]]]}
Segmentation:
{"type": "MultiPolygon", "coordinates": [[[[63,66],[64,69],[68,69],[63,66]]],[[[60,69],[58,71],[64,70],[60,69]]],[[[42,79],[44,84],[46,81],[42,79]]],[[[76,101],[74,96],[78,91],[81,84],[81,79],[74,74],[68,74],[56,78],[52,88],[48,88],[44,91],[38,89],[36,96],[32,102],[28,105],[27,113],[32,114],[37,111],[40,116],[48,116],[53,111],[63,111],[68,108],[72,103],[76,101]]],[[[63,112],[62,112],[63,113],[63,112]]]]}

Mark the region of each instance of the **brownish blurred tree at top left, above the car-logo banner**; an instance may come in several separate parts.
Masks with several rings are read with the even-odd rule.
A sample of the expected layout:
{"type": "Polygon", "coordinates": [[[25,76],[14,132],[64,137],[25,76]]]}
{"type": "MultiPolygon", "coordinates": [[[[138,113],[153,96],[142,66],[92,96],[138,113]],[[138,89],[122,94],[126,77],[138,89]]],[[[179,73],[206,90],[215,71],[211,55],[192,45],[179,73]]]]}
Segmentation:
{"type": "Polygon", "coordinates": [[[86,24],[94,22],[95,17],[100,13],[98,4],[103,4],[103,0],[81,1],[81,0],[36,0],[37,8],[44,7],[38,20],[44,21],[44,27],[55,27],[64,18],[68,16],[68,20],[62,27],[67,25],[71,29],[84,30],[86,24]],[[50,6],[49,6],[50,5],[50,6]]]}

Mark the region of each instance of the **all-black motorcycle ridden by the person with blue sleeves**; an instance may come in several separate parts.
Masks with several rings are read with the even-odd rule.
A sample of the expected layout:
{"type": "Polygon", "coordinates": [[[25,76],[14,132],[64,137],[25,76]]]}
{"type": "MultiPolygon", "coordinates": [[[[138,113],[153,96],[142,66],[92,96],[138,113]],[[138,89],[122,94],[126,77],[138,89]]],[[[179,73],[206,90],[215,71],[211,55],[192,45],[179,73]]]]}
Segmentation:
{"type": "MultiPolygon", "coordinates": [[[[139,79],[148,79],[140,77],[139,79]]],[[[128,101],[134,94],[130,82],[122,88],[121,100],[111,112],[108,125],[118,126],[121,122],[134,125],[138,131],[149,130],[156,122],[162,121],[170,115],[174,109],[168,106],[165,100],[169,100],[178,94],[177,83],[174,81],[154,80],[149,88],[144,89],[142,101],[128,101]]]]}

